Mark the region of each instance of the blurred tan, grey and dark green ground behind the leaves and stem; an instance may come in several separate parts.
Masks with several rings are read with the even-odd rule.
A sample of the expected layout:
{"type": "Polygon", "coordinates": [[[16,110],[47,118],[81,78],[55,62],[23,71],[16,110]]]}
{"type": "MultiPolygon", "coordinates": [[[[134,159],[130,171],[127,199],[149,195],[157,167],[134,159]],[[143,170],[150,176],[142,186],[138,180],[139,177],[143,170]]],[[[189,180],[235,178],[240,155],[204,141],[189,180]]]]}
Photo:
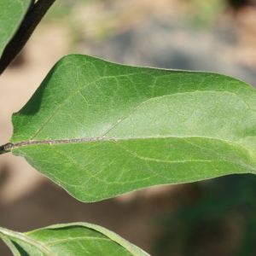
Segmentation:
{"type": "MultiPolygon", "coordinates": [[[[256,87],[256,1],[56,1],[0,78],[0,144],[61,56],[224,73],[256,87]]],[[[17,231],[84,221],[152,255],[256,255],[256,177],[157,186],[106,201],[73,199],[25,160],[0,159],[0,225],[17,231]]],[[[0,255],[11,255],[3,242],[0,255]]]]}

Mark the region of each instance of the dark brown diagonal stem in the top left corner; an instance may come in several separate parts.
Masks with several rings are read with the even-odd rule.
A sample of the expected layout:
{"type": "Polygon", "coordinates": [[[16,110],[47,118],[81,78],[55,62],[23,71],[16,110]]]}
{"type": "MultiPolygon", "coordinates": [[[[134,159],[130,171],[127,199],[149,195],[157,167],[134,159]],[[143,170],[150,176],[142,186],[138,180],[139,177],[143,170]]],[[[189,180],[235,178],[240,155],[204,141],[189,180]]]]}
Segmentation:
{"type": "Polygon", "coordinates": [[[34,0],[32,1],[30,9],[28,9],[24,20],[20,24],[20,28],[3,50],[0,60],[0,75],[20,53],[20,50],[53,3],[55,3],[55,0],[38,0],[36,3],[34,0]]]}

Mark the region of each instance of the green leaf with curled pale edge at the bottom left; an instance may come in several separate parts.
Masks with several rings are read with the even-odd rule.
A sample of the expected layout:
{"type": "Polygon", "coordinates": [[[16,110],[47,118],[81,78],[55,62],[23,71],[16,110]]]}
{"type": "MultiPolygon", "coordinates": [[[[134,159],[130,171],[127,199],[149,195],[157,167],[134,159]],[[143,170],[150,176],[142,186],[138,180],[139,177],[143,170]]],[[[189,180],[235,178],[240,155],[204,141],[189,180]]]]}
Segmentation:
{"type": "Polygon", "coordinates": [[[148,255],[112,231],[95,224],[56,224],[26,233],[0,228],[0,237],[15,256],[148,255]]]}

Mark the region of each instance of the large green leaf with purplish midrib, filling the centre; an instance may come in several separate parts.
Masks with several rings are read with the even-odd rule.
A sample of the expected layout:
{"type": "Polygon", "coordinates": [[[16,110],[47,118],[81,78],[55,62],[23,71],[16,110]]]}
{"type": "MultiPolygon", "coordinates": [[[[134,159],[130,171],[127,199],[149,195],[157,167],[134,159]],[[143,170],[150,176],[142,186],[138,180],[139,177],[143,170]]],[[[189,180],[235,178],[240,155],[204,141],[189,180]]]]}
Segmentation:
{"type": "Polygon", "coordinates": [[[68,55],[13,115],[11,150],[80,201],[256,172],[256,90],[68,55]]]}

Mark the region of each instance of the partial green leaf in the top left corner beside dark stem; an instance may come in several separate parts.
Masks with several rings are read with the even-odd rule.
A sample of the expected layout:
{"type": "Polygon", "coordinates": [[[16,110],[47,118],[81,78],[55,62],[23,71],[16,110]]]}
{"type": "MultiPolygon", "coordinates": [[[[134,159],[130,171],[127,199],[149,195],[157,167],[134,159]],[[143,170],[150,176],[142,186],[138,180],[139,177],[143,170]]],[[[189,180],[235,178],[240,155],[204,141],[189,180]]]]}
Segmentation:
{"type": "Polygon", "coordinates": [[[20,26],[31,0],[0,1],[0,57],[3,49],[20,26]]]}

